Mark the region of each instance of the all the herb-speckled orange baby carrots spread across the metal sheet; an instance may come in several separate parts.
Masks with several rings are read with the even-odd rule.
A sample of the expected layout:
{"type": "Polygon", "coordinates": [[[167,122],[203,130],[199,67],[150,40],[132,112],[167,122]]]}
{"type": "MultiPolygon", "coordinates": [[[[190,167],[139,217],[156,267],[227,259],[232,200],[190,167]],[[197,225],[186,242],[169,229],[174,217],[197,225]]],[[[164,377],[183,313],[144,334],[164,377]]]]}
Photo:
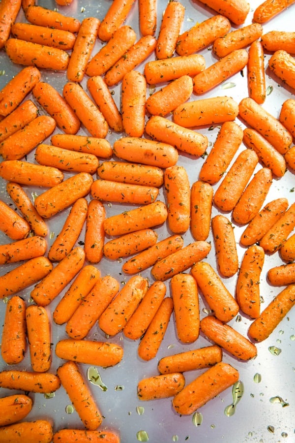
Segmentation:
{"type": "Polygon", "coordinates": [[[123,358],[120,346],[87,339],[94,325],[107,336],[122,332],[141,339],[138,355],[145,361],[156,357],[172,316],[181,343],[194,344],[200,332],[213,342],[160,359],[160,374],[138,383],[139,399],[173,397],[175,411],[191,414],[239,378],[222,361],[222,349],[243,361],[255,357],[252,342],[265,340],[293,307],[295,203],[285,197],[265,200],[274,179],[287,168],[295,171],[295,100],[282,103],[279,118],[262,106],[265,51],[272,53],[269,69],[287,90],[295,88],[294,32],[263,32],[263,24],[293,2],[274,6],[266,0],[254,11],[253,23],[243,26],[247,2],[206,0],[215,15],[181,33],[184,7],[170,1],[156,38],[155,2],[142,0],[136,41],[124,24],[134,0],[114,0],[101,22],[88,17],[81,23],[34,1],[1,1],[0,48],[22,65],[0,91],[0,177],[17,208],[0,201],[0,230],[8,238],[0,245],[0,264],[16,264],[0,277],[0,298],[8,297],[1,356],[18,364],[29,343],[31,368],[0,372],[0,386],[49,393],[62,385],[86,430],[53,433],[50,421],[24,422],[31,398],[7,396],[0,399],[7,411],[0,419],[0,441],[16,435],[26,441],[29,435],[42,442],[83,442],[103,435],[105,442],[119,442],[116,433],[97,431],[103,415],[79,369],[79,363],[109,367],[123,358]],[[21,8],[28,23],[16,21],[21,8]],[[103,45],[93,54],[98,38],[103,45]],[[206,67],[197,53],[210,45],[218,61],[206,67]],[[156,60],[147,62],[152,54],[156,60]],[[137,70],[142,63],[144,73],[137,70]],[[230,96],[192,98],[244,67],[249,96],[239,103],[230,96]],[[62,95],[42,81],[42,70],[65,72],[62,95]],[[80,84],[86,78],[87,90],[80,84]],[[110,88],[119,83],[118,107],[110,88]],[[159,84],[165,86],[147,98],[148,85],[159,84]],[[220,125],[217,138],[199,178],[190,183],[178,158],[205,157],[208,139],[196,128],[211,125],[220,125]],[[113,146],[110,130],[124,133],[113,146]],[[27,161],[32,154],[34,161],[27,161]],[[34,201],[29,187],[42,189],[34,201]],[[158,199],[160,190],[165,201],[158,199]],[[107,217],[106,202],[134,207],[107,217]],[[213,205],[220,212],[214,217],[213,205]],[[49,245],[47,221],[66,210],[49,245]],[[234,223],[244,226],[239,239],[234,223]],[[160,240],[162,225],[169,235],[160,240]],[[193,241],[185,245],[189,231],[193,241]],[[206,261],[210,231],[216,270],[206,261]],[[82,235],[83,247],[76,246],[82,235]],[[237,240],[246,248],[241,261],[237,240]],[[285,262],[267,273],[271,285],[285,287],[262,311],[266,253],[279,253],[285,262]],[[114,277],[101,275],[99,263],[122,258],[128,280],[120,289],[114,277]],[[148,269],[152,284],[141,275],[148,269]],[[233,276],[235,294],[223,280],[233,276]],[[32,285],[34,303],[27,306],[18,293],[32,285]],[[199,290],[211,311],[203,319],[199,290]],[[239,311],[253,320],[249,339],[227,324],[239,311]],[[52,322],[65,325],[69,337],[55,346],[66,360],[56,375],[50,373],[52,322]],[[183,373],[196,369],[206,371],[185,386],[183,373]]]}

